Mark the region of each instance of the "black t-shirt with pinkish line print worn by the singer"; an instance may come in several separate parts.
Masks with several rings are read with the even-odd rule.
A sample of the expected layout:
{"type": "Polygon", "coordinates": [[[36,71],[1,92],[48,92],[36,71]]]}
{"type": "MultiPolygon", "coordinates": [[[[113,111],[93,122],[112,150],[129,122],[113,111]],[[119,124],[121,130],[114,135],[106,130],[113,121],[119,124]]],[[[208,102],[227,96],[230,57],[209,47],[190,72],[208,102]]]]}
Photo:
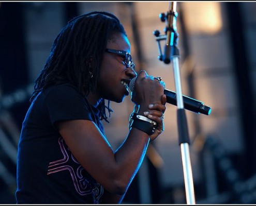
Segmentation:
{"type": "Polygon", "coordinates": [[[27,111],[18,145],[18,204],[100,203],[103,187],[72,156],[54,125],[65,119],[91,120],[104,134],[99,110],[72,84],[40,92],[27,111]]]}

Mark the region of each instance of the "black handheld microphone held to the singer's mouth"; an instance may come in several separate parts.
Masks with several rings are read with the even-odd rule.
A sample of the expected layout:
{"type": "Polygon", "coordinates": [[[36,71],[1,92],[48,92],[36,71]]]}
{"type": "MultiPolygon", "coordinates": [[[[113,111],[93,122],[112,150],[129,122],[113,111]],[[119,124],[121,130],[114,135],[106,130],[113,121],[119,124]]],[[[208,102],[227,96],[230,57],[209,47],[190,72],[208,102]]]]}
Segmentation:
{"type": "MultiPolygon", "coordinates": [[[[136,78],[137,77],[134,77],[129,83],[129,88],[130,88],[131,92],[133,92],[133,90],[134,90],[134,84],[135,84],[136,78]]],[[[167,97],[167,103],[177,106],[177,97],[176,97],[175,92],[173,92],[171,90],[164,89],[163,93],[167,97]]],[[[185,96],[185,95],[182,95],[182,96],[183,96],[183,102],[184,102],[184,109],[190,110],[190,111],[198,113],[198,114],[201,113],[201,114],[205,114],[205,115],[209,115],[210,112],[212,112],[212,108],[204,105],[202,101],[193,99],[193,98],[185,96]]]]}

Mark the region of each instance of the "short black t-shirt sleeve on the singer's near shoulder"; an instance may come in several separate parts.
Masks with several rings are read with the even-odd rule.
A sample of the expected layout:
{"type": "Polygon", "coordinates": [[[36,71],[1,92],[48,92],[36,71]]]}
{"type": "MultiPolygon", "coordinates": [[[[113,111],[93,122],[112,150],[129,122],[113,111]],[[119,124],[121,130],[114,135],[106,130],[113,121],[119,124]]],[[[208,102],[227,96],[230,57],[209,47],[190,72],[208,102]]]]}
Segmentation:
{"type": "Polygon", "coordinates": [[[46,112],[52,125],[60,120],[92,120],[85,98],[69,85],[59,85],[46,93],[46,112]]]}

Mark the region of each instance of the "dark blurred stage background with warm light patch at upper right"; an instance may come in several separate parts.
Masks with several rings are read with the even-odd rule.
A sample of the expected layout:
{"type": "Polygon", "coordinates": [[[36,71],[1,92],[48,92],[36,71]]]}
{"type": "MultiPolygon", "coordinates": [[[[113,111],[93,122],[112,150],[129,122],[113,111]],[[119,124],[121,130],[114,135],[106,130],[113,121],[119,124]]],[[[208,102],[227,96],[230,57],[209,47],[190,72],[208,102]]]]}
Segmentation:
{"type": "MultiPolygon", "coordinates": [[[[159,14],[169,2],[0,2],[2,204],[16,203],[19,135],[52,42],[68,20],[94,10],[121,20],[136,70],[161,76],[175,91],[172,65],[158,59],[153,35],[156,29],[164,34],[159,14]]],[[[255,11],[254,2],[177,3],[182,92],[212,108],[210,115],[186,111],[196,203],[256,203],[255,11]]],[[[111,102],[114,112],[104,127],[114,148],[125,139],[132,107],[129,97],[121,105],[111,102]]],[[[123,203],[186,203],[176,109],[167,105],[165,130],[148,148],[123,203]]]]}

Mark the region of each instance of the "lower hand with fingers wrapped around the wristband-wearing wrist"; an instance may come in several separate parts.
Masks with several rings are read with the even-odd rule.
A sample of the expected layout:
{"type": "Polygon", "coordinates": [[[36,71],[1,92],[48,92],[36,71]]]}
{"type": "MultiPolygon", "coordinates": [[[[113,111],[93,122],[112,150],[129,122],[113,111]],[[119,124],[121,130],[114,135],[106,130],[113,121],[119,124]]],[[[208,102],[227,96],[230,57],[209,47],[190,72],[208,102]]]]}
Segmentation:
{"type": "Polygon", "coordinates": [[[164,131],[164,124],[163,124],[163,118],[164,117],[164,112],[165,112],[165,104],[166,104],[167,98],[165,94],[162,95],[162,102],[161,103],[155,103],[151,104],[148,109],[148,113],[145,116],[148,118],[152,119],[153,121],[157,122],[157,128],[155,129],[155,132],[150,135],[150,142],[153,142],[159,134],[161,134],[164,131]]]}

